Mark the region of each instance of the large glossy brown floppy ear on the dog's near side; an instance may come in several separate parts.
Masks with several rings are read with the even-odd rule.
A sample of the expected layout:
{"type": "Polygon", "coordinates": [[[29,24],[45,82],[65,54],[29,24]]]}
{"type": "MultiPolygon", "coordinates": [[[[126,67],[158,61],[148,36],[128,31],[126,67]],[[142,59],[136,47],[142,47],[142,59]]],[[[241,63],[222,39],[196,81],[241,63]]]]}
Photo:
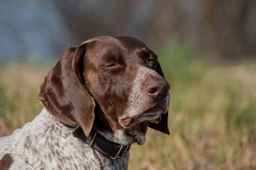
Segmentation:
{"type": "Polygon", "coordinates": [[[86,44],[70,47],[44,78],[38,95],[40,103],[57,120],[80,126],[85,136],[94,121],[95,103],[84,83],[86,44]]]}

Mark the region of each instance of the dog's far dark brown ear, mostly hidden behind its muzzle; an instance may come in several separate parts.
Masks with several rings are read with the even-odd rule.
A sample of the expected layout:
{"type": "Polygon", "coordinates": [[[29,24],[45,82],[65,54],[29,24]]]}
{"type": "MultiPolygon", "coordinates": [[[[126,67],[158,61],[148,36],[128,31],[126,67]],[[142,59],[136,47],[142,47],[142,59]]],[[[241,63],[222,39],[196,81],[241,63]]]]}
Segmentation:
{"type": "MultiPolygon", "coordinates": [[[[161,69],[159,62],[157,62],[157,65],[156,65],[156,72],[159,75],[164,77],[164,73],[161,69]]],[[[169,103],[168,103],[168,105],[169,105],[169,103]]],[[[155,123],[148,122],[148,126],[152,129],[155,129],[157,131],[161,131],[167,135],[170,135],[170,131],[168,128],[168,111],[161,116],[161,121],[159,123],[155,124],[155,123]]]]}

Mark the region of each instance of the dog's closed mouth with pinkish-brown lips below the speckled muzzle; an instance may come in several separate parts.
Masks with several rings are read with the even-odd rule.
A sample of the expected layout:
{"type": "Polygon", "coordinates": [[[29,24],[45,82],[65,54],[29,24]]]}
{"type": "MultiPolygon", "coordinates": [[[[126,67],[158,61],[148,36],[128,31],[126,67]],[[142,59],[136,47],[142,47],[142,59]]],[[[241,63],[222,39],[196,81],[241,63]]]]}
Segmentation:
{"type": "Polygon", "coordinates": [[[152,106],[140,114],[138,117],[126,117],[121,119],[121,123],[124,127],[129,127],[131,125],[139,124],[143,121],[149,122],[159,122],[161,120],[161,114],[163,113],[163,109],[158,105],[152,106]]]}

